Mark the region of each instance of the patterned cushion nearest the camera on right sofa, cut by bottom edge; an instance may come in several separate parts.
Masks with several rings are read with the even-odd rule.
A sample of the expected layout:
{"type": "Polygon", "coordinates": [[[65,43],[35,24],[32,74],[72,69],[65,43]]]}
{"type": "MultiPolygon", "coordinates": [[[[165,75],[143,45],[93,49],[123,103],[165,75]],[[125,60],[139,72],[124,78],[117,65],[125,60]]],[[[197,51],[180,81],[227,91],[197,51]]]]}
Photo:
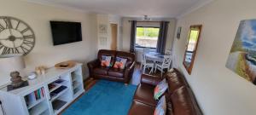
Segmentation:
{"type": "Polygon", "coordinates": [[[166,114],[166,96],[162,96],[158,101],[157,106],[154,110],[154,115],[165,115],[166,114]]]}

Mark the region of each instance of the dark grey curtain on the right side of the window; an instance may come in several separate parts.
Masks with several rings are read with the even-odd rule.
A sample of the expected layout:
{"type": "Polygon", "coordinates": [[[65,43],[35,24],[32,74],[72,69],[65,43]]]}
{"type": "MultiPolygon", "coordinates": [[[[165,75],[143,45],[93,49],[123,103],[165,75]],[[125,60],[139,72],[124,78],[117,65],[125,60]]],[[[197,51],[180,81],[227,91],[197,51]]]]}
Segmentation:
{"type": "Polygon", "coordinates": [[[157,47],[156,47],[156,51],[160,54],[165,54],[168,25],[169,25],[169,21],[160,22],[160,31],[159,31],[159,37],[158,37],[157,47]]]}

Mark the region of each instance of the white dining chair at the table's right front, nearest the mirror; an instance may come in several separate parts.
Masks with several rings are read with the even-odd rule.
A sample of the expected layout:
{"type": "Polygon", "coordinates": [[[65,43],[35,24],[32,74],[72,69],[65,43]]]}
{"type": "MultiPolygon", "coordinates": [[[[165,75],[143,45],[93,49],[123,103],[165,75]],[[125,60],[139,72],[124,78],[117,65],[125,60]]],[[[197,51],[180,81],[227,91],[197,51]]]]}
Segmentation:
{"type": "Polygon", "coordinates": [[[156,70],[160,70],[161,77],[162,77],[164,69],[167,68],[168,70],[170,70],[171,63],[172,63],[172,55],[164,55],[164,60],[160,63],[155,64],[154,72],[156,72],[156,70]]]}

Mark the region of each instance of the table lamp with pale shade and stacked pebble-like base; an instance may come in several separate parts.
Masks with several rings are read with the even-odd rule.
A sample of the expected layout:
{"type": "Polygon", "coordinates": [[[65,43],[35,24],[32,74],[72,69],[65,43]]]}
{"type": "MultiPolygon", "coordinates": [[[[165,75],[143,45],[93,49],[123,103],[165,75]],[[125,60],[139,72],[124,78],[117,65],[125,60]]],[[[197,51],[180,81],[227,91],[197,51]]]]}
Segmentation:
{"type": "Polygon", "coordinates": [[[24,85],[24,81],[20,77],[20,72],[25,68],[25,62],[22,54],[0,55],[0,72],[10,75],[10,89],[17,89],[24,85]]]}

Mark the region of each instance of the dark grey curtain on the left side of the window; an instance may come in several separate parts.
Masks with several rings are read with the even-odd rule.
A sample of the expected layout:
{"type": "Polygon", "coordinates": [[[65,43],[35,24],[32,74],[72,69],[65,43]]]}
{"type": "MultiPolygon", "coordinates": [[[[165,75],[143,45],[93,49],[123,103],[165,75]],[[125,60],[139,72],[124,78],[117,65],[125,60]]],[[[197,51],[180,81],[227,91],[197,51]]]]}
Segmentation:
{"type": "Polygon", "coordinates": [[[131,43],[130,43],[131,53],[135,53],[136,28],[137,28],[137,21],[131,20],[131,43]]]}

